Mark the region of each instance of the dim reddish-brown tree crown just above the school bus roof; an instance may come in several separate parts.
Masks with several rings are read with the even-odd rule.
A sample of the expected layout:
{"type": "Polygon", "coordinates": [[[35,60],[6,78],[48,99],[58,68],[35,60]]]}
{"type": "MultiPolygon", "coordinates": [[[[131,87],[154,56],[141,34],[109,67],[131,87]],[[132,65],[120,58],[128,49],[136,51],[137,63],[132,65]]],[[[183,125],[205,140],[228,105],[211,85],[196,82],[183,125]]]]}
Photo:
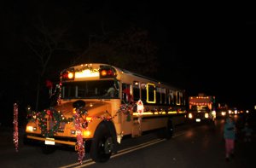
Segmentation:
{"type": "Polygon", "coordinates": [[[90,45],[76,62],[102,62],[143,75],[154,74],[159,67],[157,47],[148,31],[130,27],[125,32],[90,38],[90,45]]]}

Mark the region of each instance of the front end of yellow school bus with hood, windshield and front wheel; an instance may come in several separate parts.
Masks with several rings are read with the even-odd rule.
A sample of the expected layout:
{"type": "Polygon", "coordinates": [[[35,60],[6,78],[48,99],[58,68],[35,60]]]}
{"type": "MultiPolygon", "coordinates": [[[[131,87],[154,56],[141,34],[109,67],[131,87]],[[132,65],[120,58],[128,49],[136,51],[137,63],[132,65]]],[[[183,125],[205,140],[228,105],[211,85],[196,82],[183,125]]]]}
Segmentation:
{"type": "MultiPolygon", "coordinates": [[[[44,142],[47,149],[49,145],[66,144],[76,150],[83,148],[87,141],[93,148],[92,159],[108,160],[115,150],[116,131],[119,131],[113,124],[113,120],[119,120],[120,113],[118,73],[102,64],[62,71],[56,105],[43,112],[29,113],[26,140],[44,142]],[[102,142],[106,144],[104,148],[99,147],[102,142]],[[96,152],[100,150],[104,153],[96,152]]],[[[46,148],[43,151],[49,153],[46,148]]]]}

